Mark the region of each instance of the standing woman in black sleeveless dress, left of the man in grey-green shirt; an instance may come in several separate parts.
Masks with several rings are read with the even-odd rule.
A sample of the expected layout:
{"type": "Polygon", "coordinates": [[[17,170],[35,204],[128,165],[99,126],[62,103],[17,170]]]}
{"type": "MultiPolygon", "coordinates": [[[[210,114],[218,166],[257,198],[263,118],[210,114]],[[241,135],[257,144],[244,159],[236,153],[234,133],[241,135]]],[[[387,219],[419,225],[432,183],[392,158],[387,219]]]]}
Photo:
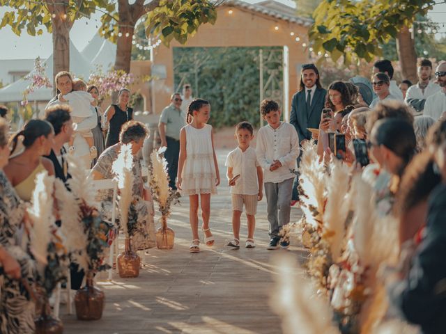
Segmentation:
{"type": "Polygon", "coordinates": [[[105,111],[105,118],[109,123],[109,131],[105,140],[105,148],[119,142],[119,133],[125,122],[133,119],[133,109],[128,106],[130,90],[123,88],[118,93],[118,103],[110,105],[105,111]]]}

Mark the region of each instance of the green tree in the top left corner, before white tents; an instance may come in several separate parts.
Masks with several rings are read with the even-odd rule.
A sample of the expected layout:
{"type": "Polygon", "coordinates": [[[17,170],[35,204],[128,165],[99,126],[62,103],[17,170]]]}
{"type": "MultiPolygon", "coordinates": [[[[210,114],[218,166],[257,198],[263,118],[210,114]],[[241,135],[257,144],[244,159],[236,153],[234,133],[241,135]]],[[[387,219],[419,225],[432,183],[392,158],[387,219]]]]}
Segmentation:
{"type": "Polygon", "coordinates": [[[100,8],[114,8],[107,0],[0,0],[0,5],[11,8],[3,16],[0,29],[8,25],[19,36],[24,30],[33,36],[41,35],[43,29],[52,33],[53,75],[70,70],[70,29],[75,21],[91,17],[100,8]]]}

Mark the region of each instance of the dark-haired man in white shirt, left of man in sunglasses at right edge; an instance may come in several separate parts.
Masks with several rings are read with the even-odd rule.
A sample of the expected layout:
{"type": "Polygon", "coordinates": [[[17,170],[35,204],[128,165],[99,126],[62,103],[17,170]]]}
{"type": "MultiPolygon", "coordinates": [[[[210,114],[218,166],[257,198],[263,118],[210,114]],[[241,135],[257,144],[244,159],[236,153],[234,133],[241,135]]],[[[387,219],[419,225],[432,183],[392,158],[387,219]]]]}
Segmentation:
{"type": "Polygon", "coordinates": [[[432,63],[429,59],[422,59],[418,63],[417,74],[419,81],[416,85],[409,87],[405,102],[417,111],[417,115],[422,115],[426,99],[441,88],[431,81],[432,63]]]}

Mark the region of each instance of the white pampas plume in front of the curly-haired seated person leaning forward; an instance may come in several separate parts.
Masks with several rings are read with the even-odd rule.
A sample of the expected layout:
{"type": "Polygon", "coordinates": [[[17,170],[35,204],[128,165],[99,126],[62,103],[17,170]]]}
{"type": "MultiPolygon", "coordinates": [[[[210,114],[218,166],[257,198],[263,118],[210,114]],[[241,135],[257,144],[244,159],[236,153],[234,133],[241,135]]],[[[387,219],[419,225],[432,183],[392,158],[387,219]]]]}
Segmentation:
{"type": "Polygon", "coordinates": [[[126,238],[130,238],[130,230],[128,228],[128,216],[130,204],[132,203],[132,189],[134,182],[133,175],[133,155],[132,145],[121,145],[121,152],[112,165],[112,170],[118,180],[118,188],[120,195],[118,196],[118,207],[120,212],[120,225],[126,238]]]}

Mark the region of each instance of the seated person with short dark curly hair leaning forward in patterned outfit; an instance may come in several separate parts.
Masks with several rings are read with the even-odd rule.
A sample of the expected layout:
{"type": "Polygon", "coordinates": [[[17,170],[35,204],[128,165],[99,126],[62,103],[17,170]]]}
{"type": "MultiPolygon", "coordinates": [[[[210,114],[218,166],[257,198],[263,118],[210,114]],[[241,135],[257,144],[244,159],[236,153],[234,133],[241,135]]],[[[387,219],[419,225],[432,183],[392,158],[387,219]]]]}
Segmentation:
{"type": "MultiPolygon", "coordinates": [[[[153,200],[148,189],[144,189],[144,182],[141,175],[141,163],[137,157],[141,150],[144,139],[148,134],[147,127],[141,122],[130,121],[125,123],[119,134],[119,142],[110,146],[102,152],[91,170],[93,180],[112,179],[114,173],[112,164],[118,157],[121,145],[131,143],[134,157],[133,174],[134,182],[132,196],[134,207],[137,211],[136,232],[132,236],[133,250],[145,250],[155,246],[155,227],[153,225],[153,200]]],[[[112,214],[112,190],[100,191],[96,200],[101,203],[101,212],[105,218],[110,218],[112,214]]]]}

